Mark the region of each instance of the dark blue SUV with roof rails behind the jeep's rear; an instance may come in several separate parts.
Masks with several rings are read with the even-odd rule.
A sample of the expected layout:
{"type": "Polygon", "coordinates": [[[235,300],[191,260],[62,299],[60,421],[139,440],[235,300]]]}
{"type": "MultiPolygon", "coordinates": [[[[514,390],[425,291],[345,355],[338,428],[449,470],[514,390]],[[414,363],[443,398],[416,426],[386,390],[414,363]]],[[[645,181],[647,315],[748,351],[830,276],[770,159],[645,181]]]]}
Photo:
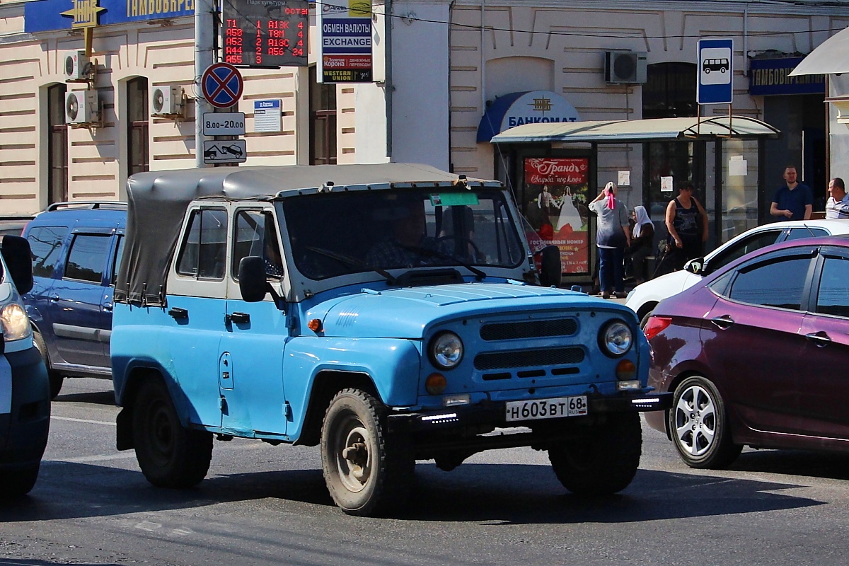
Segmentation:
{"type": "Polygon", "coordinates": [[[24,302],[53,397],[65,377],[111,378],[112,292],[126,224],[125,203],[68,202],[24,229],[34,279],[24,302]]]}

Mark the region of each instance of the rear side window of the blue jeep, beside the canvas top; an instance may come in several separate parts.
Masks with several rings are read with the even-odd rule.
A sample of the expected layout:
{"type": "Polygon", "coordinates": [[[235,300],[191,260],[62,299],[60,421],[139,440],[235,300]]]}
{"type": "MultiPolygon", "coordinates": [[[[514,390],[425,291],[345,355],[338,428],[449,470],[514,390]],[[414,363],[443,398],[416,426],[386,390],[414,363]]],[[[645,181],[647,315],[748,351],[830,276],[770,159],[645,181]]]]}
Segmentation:
{"type": "Polygon", "coordinates": [[[227,253],[227,210],[194,210],[177,261],[177,273],[223,279],[227,253]]]}

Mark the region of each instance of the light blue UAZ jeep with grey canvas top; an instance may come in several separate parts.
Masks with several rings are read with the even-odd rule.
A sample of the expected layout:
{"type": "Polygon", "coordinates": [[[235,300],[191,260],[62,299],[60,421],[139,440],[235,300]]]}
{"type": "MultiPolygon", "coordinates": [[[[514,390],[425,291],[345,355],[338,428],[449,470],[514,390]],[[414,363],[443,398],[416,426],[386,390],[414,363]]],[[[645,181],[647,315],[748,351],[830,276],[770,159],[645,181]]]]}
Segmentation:
{"type": "Polygon", "coordinates": [[[535,284],[498,182],[239,167],[138,174],[128,197],[117,442],[155,485],[198,483],[213,436],[239,436],[320,445],[352,514],[401,504],[416,460],[511,446],[608,494],[636,473],[638,411],[668,406],[633,311],[535,284]]]}

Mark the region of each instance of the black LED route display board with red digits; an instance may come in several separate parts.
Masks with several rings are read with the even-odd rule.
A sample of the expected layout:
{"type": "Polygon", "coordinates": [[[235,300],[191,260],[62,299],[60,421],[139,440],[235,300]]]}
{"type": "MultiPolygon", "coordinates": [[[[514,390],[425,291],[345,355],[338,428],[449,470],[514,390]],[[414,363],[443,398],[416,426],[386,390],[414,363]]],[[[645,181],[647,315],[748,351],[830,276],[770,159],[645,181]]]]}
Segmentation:
{"type": "Polygon", "coordinates": [[[306,0],[223,0],[224,62],[306,67],[306,0]]]}

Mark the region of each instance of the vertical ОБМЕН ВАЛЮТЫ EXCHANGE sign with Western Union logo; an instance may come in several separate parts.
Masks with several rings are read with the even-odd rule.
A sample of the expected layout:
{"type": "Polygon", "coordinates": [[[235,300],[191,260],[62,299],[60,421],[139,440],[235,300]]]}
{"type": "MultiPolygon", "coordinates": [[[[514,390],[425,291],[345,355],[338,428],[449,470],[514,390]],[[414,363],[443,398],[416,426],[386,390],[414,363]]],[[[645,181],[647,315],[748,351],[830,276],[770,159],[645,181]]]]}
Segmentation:
{"type": "Polygon", "coordinates": [[[317,9],[319,82],[372,81],[371,3],[329,0],[317,9]]]}

